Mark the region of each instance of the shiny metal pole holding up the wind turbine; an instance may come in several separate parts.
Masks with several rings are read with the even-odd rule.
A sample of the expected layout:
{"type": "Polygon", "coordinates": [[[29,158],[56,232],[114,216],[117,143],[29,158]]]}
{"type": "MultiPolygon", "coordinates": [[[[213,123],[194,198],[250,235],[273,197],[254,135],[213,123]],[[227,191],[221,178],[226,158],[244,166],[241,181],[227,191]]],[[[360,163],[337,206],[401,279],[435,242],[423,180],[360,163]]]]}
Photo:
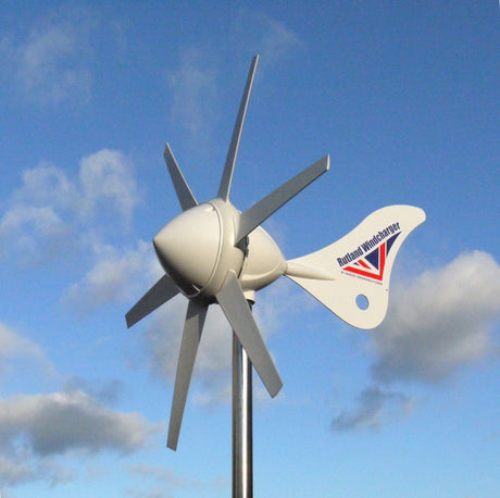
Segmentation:
{"type": "Polygon", "coordinates": [[[233,498],[252,497],[252,363],[233,333],[233,498]]]}

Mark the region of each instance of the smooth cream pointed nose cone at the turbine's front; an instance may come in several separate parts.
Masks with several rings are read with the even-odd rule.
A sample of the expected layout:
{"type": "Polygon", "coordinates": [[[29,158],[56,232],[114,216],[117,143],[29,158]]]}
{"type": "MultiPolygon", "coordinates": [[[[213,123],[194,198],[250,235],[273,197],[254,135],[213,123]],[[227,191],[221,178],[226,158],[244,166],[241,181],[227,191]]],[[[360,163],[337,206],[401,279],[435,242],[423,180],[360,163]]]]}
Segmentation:
{"type": "Polygon", "coordinates": [[[210,282],[221,251],[222,226],[217,211],[209,203],[185,211],[153,238],[164,270],[192,295],[210,282]]]}

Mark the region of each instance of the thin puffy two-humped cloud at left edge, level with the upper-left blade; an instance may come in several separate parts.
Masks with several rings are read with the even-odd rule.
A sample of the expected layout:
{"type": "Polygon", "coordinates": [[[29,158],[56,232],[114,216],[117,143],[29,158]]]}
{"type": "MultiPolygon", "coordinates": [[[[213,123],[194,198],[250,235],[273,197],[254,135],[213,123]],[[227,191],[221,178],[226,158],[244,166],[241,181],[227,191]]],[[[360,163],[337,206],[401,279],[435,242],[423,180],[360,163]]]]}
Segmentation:
{"type": "Polygon", "coordinates": [[[124,226],[138,202],[133,166],[120,151],[103,149],[84,158],[73,178],[43,162],[23,173],[22,186],[0,216],[2,256],[39,263],[73,244],[88,245],[99,210],[104,220],[112,216],[113,225],[124,226]]]}

